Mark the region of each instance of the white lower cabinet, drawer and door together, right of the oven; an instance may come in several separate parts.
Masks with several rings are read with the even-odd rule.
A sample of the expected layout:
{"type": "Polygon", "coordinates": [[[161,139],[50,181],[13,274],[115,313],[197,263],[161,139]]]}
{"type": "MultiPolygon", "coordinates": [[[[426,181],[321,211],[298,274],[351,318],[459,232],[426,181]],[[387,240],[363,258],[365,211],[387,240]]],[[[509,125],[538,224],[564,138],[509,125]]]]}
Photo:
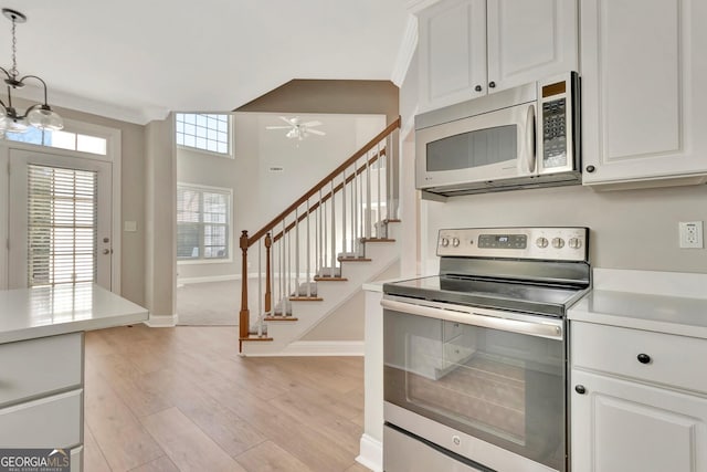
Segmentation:
{"type": "Polygon", "coordinates": [[[598,332],[597,326],[571,323],[572,472],[707,472],[707,392],[669,388],[667,379],[651,371],[657,367],[704,377],[701,359],[659,349],[662,336],[674,343],[675,354],[682,349],[677,338],[705,347],[707,340],[610,326],[598,332]],[[626,333],[634,338],[622,339],[626,333]],[[608,344],[620,347],[616,371],[592,360],[604,356],[608,344]],[[625,368],[631,360],[635,369],[625,368]]]}

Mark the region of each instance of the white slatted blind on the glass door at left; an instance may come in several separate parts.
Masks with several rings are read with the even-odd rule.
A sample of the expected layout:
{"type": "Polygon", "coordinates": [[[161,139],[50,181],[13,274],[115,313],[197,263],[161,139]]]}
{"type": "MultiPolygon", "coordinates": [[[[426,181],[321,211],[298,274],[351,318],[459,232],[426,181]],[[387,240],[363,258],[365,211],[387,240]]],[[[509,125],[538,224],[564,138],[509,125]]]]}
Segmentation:
{"type": "Polygon", "coordinates": [[[28,286],[95,282],[96,171],[28,166],[28,286]]]}

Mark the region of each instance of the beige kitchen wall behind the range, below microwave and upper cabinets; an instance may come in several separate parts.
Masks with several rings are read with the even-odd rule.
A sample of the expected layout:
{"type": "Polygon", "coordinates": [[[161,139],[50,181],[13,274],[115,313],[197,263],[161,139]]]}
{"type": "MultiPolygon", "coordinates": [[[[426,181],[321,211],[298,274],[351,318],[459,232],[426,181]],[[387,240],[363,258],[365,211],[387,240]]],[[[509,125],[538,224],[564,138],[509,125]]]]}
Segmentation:
{"type": "Polygon", "coordinates": [[[422,201],[422,273],[437,270],[441,228],[589,227],[592,265],[707,273],[707,249],[679,249],[678,222],[707,224],[707,186],[598,192],[580,186],[422,201]]]}

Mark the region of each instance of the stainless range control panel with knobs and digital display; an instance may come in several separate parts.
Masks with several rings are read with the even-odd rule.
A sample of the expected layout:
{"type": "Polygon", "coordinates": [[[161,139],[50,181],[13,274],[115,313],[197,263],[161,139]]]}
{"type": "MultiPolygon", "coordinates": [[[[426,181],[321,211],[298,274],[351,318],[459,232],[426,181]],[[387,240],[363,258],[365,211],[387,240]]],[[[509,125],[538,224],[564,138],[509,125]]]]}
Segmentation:
{"type": "Polygon", "coordinates": [[[440,230],[437,255],[588,262],[588,228],[440,230]]]}

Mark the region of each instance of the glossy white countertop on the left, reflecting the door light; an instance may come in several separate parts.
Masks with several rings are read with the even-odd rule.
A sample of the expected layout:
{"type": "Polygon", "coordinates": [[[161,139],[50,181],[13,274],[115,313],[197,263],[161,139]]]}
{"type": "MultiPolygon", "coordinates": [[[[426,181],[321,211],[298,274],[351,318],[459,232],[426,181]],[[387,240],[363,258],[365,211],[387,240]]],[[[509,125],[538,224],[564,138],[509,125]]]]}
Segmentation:
{"type": "Polygon", "coordinates": [[[148,311],[95,284],[0,291],[0,344],[140,323],[148,311]]]}

